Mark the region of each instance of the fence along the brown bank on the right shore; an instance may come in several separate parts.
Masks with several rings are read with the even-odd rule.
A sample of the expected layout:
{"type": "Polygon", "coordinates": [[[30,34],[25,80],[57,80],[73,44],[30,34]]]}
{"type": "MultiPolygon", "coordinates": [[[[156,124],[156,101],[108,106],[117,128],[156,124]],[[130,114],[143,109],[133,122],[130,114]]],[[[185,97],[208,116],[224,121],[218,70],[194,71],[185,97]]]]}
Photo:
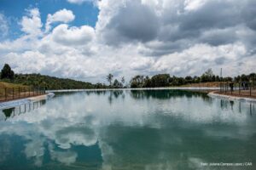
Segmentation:
{"type": "Polygon", "coordinates": [[[219,93],[256,97],[256,82],[222,82],[219,93]]]}

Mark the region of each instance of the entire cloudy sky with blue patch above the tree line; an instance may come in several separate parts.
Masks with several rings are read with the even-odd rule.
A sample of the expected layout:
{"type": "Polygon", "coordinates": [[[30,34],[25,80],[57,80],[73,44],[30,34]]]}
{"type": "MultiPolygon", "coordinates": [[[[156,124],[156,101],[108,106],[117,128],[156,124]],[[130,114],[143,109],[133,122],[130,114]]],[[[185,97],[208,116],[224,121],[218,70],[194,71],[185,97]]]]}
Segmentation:
{"type": "Polygon", "coordinates": [[[0,0],[0,67],[86,82],[256,72],[255,0],[0,0]]]}

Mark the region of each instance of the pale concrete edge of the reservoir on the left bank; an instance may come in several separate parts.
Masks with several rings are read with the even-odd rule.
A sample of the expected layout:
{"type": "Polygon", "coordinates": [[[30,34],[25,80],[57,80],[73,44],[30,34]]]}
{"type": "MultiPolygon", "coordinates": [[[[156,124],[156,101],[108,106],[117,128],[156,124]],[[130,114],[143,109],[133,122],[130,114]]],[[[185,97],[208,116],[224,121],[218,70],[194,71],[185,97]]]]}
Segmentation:
{"type": "Polygon", "coordinates": [[[0,103],[0,110],[9,109],[9,108],[12,108],[12,107],[16,107],[18,105],[25,105],[25,104],[28,104],[28,103],[32,103],[32,102],[35,102],[35,101],[42,100],[42,99],[51,99],[51,98],[54,97],[54,95],[55,94],[53,94],[53,93],[48,93],[48,94],[44,94],[44,95],[40,95],[40,96],[29,97],[29,98],[26,98],[26,99],[15,99],[15,100],[12,100],[12,101],[6,101],[6,102],[3,102],[3,103],[0,103]]]}

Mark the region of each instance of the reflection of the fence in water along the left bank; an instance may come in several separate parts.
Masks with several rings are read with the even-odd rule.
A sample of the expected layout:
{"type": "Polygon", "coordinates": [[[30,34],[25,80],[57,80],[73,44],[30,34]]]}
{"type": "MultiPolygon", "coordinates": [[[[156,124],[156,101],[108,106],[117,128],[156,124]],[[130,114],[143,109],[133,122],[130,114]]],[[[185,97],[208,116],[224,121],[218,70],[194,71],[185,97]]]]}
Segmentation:
{"type": "Polygon", "coordinates": [[[45,105],[45,104],[46,104],[46,100],[44,99],[44,100],[28,103],[28,104],[25,104],[25,105],[19,105],[17,107],[4,109],[3,110],[3,115],[5,116],[4,120],[6,121],[10,117],[17,116],[17,115],[20,115],[20,114],[25,114],[26,112],[36,110],[36,109],[38,109],[39,107],[41,107],[42,105],[45,105]]]}

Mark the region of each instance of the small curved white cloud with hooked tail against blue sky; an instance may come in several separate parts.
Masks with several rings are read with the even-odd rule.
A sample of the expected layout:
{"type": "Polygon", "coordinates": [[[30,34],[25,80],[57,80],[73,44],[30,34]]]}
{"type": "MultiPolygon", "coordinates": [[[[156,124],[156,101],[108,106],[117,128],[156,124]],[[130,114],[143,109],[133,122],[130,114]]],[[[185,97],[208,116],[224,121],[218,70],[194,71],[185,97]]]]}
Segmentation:
{"type": "Polygon", "coordinates": [[[68,23],[75,19],[75,15],[73,14],[73,11],[67,10],[66,8],[63,8],[55,14],[48,14],[47,21],[45,24],[45,30],[49,31],[50,25],[55,22],[64,22],[68,23]]]}

